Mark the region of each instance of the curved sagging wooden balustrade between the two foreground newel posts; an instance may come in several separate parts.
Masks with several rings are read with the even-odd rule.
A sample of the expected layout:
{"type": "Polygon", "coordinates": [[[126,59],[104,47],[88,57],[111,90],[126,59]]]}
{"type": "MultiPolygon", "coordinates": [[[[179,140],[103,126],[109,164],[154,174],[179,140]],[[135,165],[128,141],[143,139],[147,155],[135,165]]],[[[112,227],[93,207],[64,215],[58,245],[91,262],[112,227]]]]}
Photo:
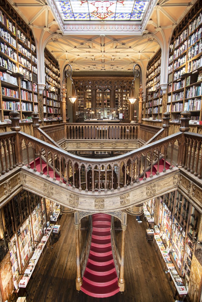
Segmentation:
{"type": "MultiPolygon", "coordinates": [[[[151,158],[152,165],[159,165],[161,149],[166,150],[169,144],[174,144],[176,140],[180,141],[182,133],[173,134],[170,137],[109,159],[82,158],[52,146],[49,143],[33,138],[25,133],[19,132],[19,135],[20,141],[22,142],[24,140],[26,146],[31,146],[33,150],[35,148],[39,150],[40,162],[42,161],[42,153],[45,153],[47,158],[52,158],[53,161],[55,161],[55,165],[53,165],[53,180],[55,180],[55,175],[57,175],[60,178],[60,182],[62,182],[64,176],[67,180],[66,184],[71,185],[73,188],[101,192],[109,190],[113,191],[116,188],[119,190],[120,187],[130,185],[133,182],[142,181],[142,175],[143,180],[145,180],[146,171],[148,171],[148,169],[151,170],[151,158]],[[56,170],[55,167],[57,167],[58,170],[56,170]],[[90,177],[88,177],[88,175],[90,175],[90,177]],[[107,187],[105,185],[106,177],[107,187]],[[91,184],[89,184],[89,182],[91,182],[91,184]]],[[[172,153],[173,149],[171,149],[171,157],[173,155],[172,153]]],[[[165,158],[166,153],[164,152],[163,155],[165,158]]],[[[37,159],[34,159],[34,161],[36,160],[37,159]]],[[[28,155],[26,161],[28,162],[29,168],[28,155]]],[[[172,167],[172,162],[170,162],[170,169],[172,169],[172,167]]],[[[164,168],[164,172],[166,169],[168,169],[168,167],[164,168]]],[[[43,174],[42,164],[40,172],[43,174]]],[[[46,173],[47,176],[51,178],[48,172],[48,163],[46,173]]],[[[152,174],[148,177],[152,177],[152,174]]]]}

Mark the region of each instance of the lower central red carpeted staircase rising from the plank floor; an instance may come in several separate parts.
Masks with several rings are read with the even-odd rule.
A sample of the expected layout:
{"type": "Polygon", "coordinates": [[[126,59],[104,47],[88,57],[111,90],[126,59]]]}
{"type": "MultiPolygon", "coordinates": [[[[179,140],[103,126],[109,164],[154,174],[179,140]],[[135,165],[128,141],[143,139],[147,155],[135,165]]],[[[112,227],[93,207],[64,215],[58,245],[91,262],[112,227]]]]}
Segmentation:
{"type": "Polygon", "coordinates": [[[93,214],[90,254],[81,286],[81,290],[91,297],[105,298],[119,292],[110,230],[110,215],[93,214]]]}

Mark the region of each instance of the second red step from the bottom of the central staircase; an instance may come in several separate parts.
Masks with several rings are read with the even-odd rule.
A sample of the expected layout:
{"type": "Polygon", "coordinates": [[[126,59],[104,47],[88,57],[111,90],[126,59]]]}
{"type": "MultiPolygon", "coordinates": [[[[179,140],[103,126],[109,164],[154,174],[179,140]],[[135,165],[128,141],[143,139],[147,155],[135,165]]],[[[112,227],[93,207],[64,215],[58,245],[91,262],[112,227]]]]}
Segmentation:
{"type": "Polygon", "coordinates": [[[117,275],[115,272],[112,272],[109,275],[95,275],[86,271],[83,275],[83,281],[87,281],[88,283],[94,286],[108,286],[113,284],[115,281],[118,281],[117,275]]]}

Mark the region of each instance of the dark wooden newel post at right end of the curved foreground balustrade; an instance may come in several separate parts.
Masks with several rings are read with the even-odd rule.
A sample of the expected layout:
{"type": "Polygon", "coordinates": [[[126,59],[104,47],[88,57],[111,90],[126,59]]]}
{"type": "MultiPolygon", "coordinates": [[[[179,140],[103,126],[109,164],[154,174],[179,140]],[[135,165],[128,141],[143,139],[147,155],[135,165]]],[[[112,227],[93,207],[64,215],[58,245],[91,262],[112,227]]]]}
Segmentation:
{"type": "MultiPolygon", "coordinates": [[[[185,131],[189,131],[189,121],[190,121],[190,117],[191,117],[191,112],[189,111],[183,111],[181,112],[181,115],[183,117],[180,118],[181,120],[181,126],[179,128],[179,130],[184,133],[185,131]]],[[[180,146],[179,146],[179,151],[178,151],[178,168],[182,168],[182,166],[184,165],[184,158],[186,155],[186,142],[185,142],[185,137],[184,135],[181,136],[181,142],[180,142],[180,146]]]]}

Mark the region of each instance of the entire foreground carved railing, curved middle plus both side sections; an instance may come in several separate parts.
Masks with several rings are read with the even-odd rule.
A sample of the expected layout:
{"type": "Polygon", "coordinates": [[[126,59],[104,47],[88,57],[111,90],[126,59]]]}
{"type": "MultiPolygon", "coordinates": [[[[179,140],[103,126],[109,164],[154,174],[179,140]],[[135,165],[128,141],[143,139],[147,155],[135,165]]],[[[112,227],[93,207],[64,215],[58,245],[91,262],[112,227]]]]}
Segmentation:
{"type": "Polygon", "coordinates": [[[63,149],[20,132],[20,127],[15,126],[12,129],[16,129],[16,131],[0,134],[0,172],[1,174],[5,174],[16,166],[23,165],[23,162],[26,162],[28,169],[31,169],[30,162],[32,160],[34,162],[32,169],[36,172],[38,157],[41,165],[39,172],[43,174],[43,154],[47,162],[47,177],[50,177],[48,162],[52,162],[53,181],[57,181],[56,174],[59,174],[61,183],[63,182],[63,177],[65,177],[67,179],[66,185],[71,185],[80,191],[88,191],[88,188],[92,192],[114,191],[116,188],[116,190],[119,190],[121,187],[132,185],[134,182],[144,181],[148,177],[152,178],[154,165],[156,167],[155,174],[158,175],[161,158],[164,159],[162,172],[165,172],[166,169],[173,169],[173,156],[175,154],[176,158],[177,154],[175,162],[179,168],[183,167],[190,174],[197,176],[197,178],[202,178],[202,136],[187,132],[186,130],[189,128],[183,126],[183,120],[181,125],[181,131],[178,133],[117,157],[105,159],[87,159],[70,154],[63,149]],[[179,146],[178,149],[175,148],[175,142],[179,146]],[[23,146],[25,146],[26,150],[23,150],[23,146]],[[166,163],[168,149],[169,167],[168,163],[166,163]],[[87,175],[90,170],[92,183],[89,186],[87,175]],[[114,177],[113,173],[116,173],[116,177],[114,177]],[[110,182],[110,187],[108,182],[106,188],[106,182],[103,181],[101,183],[100,181],[101,175],[104,174],[106,175],[106,179],[109,179],[108,174],[110,174],[110,179],[113,180],[110,182]],[[114,184],[114,180],[116,180],[117,186],[114,184]]]}

